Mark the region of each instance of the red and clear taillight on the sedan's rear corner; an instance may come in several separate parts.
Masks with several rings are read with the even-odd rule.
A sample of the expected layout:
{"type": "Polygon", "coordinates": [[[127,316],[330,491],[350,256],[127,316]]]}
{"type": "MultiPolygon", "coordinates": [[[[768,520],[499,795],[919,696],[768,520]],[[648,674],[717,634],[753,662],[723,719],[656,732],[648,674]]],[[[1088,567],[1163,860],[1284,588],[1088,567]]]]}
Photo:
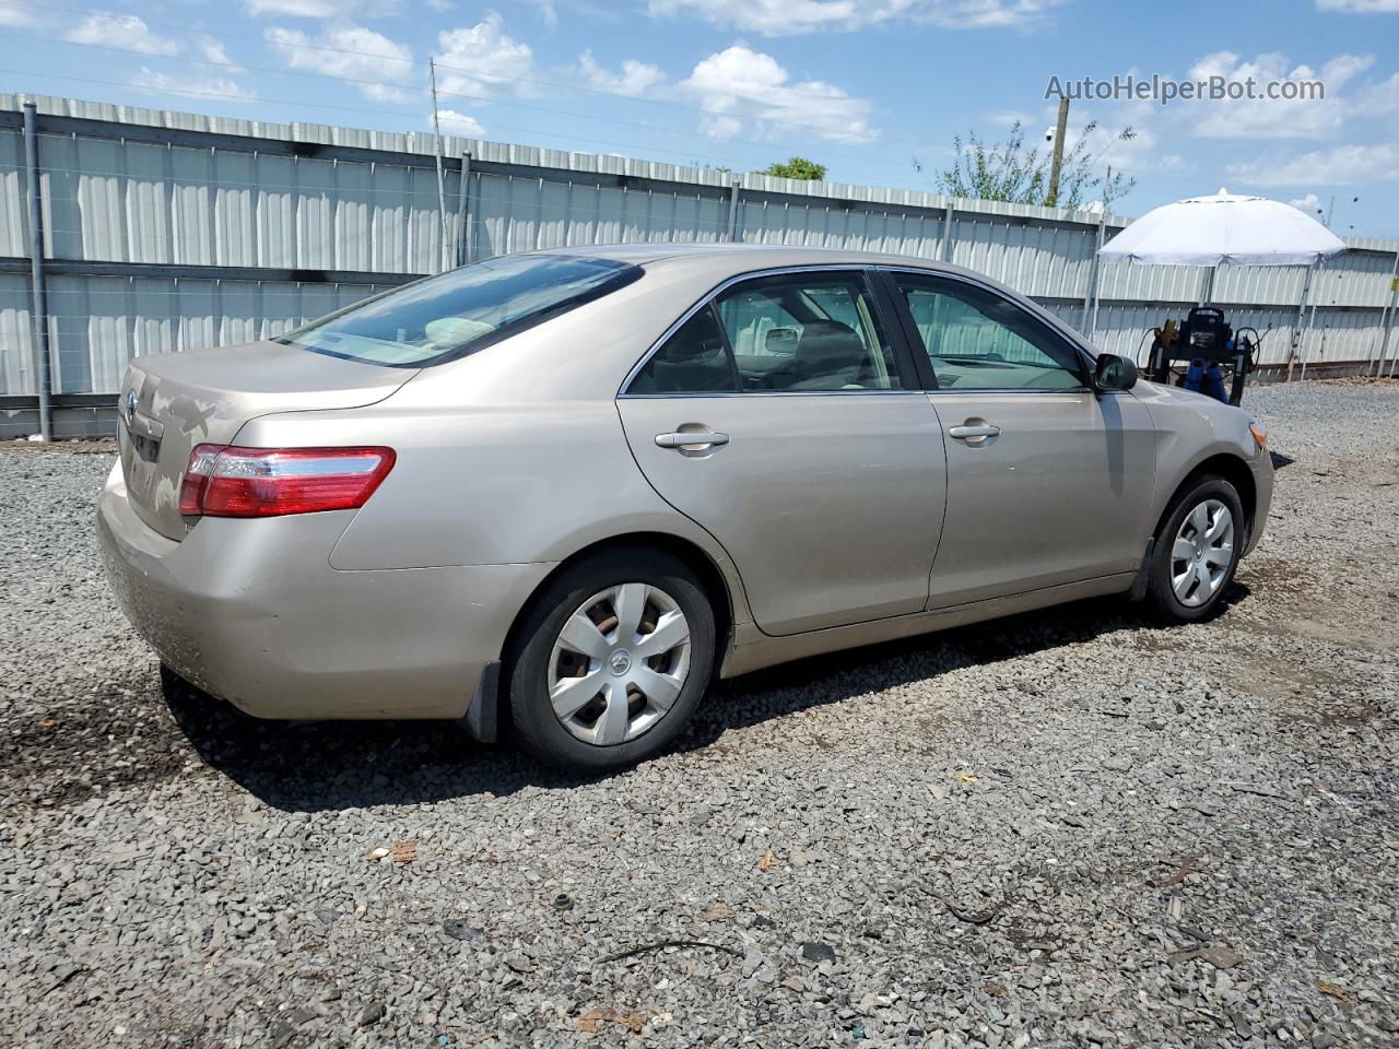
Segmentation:
{"type": "Polygon", "coordinates": [[[392,448],[196,445],[180,484],[186,518],[277,518],[364,506],[393,469],[392,448]]]}

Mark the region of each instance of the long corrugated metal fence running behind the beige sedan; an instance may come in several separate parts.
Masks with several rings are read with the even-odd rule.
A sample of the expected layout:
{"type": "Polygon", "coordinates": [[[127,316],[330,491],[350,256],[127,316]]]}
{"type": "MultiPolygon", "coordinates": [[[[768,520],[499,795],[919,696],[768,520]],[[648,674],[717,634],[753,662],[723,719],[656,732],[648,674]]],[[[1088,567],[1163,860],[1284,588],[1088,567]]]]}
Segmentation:
{"type": "MultiPolygon", "coordinates": [[[[621,157],[34,98],[46,292],[35,324],[24,101],[0,94],[0,435],[31,432],[46,333],[59,436],[112,425],[126,362],[263,338],[385,287],[560,245],[739,241],[897,252],[986,273],[1104,350],[1202,301],[1209,271],[1098,264],[1126,220],[621,157]]],[[[1226,267],[1212,298],[1262,361],[1385,358],[1399,241],[1226,267]]]]}

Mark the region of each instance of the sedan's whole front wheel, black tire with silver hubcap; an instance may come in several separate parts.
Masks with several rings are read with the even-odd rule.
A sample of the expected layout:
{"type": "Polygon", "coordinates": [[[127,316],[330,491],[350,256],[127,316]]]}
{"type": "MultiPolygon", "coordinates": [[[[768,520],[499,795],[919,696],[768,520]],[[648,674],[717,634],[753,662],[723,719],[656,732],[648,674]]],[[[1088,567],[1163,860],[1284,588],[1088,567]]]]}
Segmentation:
{"type": "Polygon", "coordinates": [[[1199,622],[1219,611],[1245,540],[1244,506],[1233,484],[1210,474],[1182,487],[1151,550],[1147,606],[1153,615],[1167,624],[1199,622]]]}

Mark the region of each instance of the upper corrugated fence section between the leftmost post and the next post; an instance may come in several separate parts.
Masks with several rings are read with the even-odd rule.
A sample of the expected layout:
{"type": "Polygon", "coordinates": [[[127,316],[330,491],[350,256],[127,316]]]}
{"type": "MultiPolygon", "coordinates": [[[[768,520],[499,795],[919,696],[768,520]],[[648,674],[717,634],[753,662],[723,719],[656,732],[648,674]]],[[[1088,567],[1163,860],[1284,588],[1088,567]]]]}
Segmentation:
{"type": "Polygon", "coordinates": [[[427,273],[442,252],[429,168],[55,134],[39,155],[50,259],[427,273]]]}

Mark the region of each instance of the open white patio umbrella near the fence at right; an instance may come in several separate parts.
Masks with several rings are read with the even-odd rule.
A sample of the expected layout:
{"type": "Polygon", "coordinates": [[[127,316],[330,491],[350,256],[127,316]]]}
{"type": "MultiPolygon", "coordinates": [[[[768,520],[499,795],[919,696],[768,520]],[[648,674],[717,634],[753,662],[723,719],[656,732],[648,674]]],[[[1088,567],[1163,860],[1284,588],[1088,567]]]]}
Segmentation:
{"type": "MultiPolygon", "coordinates": [[[[1098,257],[1154,266],[1209,266],[1210,280],[1205,290],[1209,302],[1220,266],[1307,266],[1309,270],[1344,250],[1339,236],[1291,204],[1220,189],[1213,196],[1188,197],[1147,211],[1102,245],[1098,257]]],[[[1300,309],[1307,308],[1309,288],[1308,271],[1300,309]]],[[[1312,316],[1315,313],[1314,305],[1312,316]]],[[[1307,322],[1309,329],[1311,319],[1307,322]]],[[[1302,338],[1305,336],[1307,331],[1302,338]]]]}

